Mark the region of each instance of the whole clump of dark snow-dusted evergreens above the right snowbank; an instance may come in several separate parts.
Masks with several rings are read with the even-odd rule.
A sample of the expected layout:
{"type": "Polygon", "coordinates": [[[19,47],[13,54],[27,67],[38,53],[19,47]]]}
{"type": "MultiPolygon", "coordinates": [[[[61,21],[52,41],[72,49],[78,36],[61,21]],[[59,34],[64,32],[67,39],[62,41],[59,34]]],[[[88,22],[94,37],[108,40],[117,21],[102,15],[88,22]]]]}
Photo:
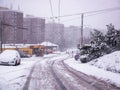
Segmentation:
{"type": "Polygon", "coordinates": [[[88,61],[113,51],[120,50],[120,30],[116,30],[112,24],[106,26],[107,33],[105,35],[97,29],[94,29],[94,31],[91,32],[92,46],[89,48],[88,61]]]}

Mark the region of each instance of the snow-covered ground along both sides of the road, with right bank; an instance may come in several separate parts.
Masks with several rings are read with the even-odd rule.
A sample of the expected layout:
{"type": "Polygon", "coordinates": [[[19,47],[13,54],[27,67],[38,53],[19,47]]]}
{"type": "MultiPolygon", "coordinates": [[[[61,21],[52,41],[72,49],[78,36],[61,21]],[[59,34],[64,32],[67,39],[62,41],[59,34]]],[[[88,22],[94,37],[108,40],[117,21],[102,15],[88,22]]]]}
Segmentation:
{"type": "MultiPolygon", "coordinates": [[[[40,61],[52,58],[52,60],[68,57],[64,62],[85,74],[95,76],[98,79],[105,80],[120,87],[120,51],[113,52],[89,63],[75,61],[71,54],[49,54],[44,57],[31,57],[22,59],[19,66],[0,65],[0,90],[21,90],[30,73],[32,66],[40,61]]],[[[41,62],[45,64],[44,62],[41,62]]]]}

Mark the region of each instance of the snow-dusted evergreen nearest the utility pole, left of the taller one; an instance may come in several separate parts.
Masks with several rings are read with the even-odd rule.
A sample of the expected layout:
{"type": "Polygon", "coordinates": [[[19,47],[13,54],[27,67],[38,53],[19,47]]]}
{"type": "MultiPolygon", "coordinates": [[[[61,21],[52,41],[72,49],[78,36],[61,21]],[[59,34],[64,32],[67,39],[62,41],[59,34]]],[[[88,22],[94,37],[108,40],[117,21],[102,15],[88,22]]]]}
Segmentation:
{"type": "Polygon", "coordinates": [[[91,32],[91,53],[90,57],[98,58],[106,53],[110,53],[110,47],[105,42],[105,35],[97,29],[94,29],[94,32],[91,32]]]}

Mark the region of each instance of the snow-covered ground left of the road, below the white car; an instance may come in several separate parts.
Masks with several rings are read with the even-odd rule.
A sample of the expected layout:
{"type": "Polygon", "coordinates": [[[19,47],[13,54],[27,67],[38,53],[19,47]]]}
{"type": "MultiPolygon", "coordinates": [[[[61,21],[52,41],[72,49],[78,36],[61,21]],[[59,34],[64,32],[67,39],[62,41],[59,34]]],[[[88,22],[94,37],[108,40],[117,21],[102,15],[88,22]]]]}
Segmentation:
{"type": "Polygon", "coordinates": [[[0,90],[21,90],[31,67],[41,58],[24,58],[21,65],[0,65],[0,90]]]}

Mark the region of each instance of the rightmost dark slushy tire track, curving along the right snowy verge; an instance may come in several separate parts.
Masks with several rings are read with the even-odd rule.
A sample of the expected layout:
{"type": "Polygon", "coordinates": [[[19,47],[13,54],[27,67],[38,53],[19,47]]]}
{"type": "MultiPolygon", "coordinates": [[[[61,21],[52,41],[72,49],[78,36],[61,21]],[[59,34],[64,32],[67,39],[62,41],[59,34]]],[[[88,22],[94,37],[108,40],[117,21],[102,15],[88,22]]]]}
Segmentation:
{"type": "Polygon", "coordinates": [[[95,90],[120,90],[119,87],[116,87],[110,83],[106,83],[102,80],[96,79],[92,76],[88,76],[84,73],[81,73],[79,71],[76,71],[75,69],[71,68],[67,64],[64,63],[64,60],[61,61],[63,66],[73,75],[78,77],[80,80],[84,81],[86,83],[86,86],[92,86],[95,88],[95,90]]]}

